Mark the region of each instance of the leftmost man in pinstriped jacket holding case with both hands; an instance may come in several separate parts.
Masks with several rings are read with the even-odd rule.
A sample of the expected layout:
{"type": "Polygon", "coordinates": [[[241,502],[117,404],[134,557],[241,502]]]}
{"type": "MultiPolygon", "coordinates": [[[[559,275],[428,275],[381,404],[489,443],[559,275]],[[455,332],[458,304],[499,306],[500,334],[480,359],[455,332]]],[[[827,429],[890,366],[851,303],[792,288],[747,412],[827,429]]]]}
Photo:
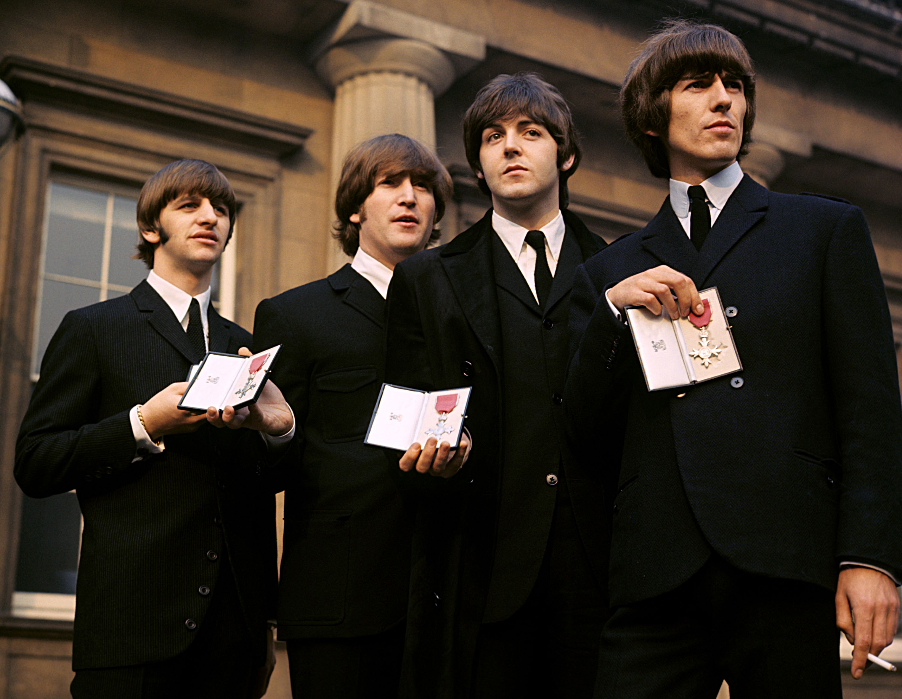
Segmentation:
{"type": "Polygon", "coordinates": [[[204,161],[172,162],[144,184],[137,216],[150,274],[63,318],[15,478],[31,497],[78,494],[73,697],[259,697],[274,663],[276,551],[267,446],[253,430],[278,445],[293,418],[272,382],[222,416],[177,407],[207,349],[246,354],[251,342],[210,304],[235,225],[228,180],[204,161]]]}

